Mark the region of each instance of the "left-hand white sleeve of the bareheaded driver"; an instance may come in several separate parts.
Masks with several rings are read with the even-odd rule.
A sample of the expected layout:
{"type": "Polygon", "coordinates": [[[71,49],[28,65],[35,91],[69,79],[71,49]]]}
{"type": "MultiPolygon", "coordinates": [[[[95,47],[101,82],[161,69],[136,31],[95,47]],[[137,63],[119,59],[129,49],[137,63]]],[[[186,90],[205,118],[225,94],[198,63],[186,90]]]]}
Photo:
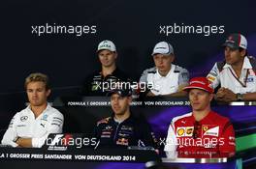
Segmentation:
{"type": "Polygon", "coordinates": [[[6,130],[3,139],[2,144],[3,145],[9,145],[12,147],[17,147],[16,142],[14,141],[17,137],[16,133],[16,120],[18,119],[18,113],[13,117],[11,120],[8,129],[6,130]]]}

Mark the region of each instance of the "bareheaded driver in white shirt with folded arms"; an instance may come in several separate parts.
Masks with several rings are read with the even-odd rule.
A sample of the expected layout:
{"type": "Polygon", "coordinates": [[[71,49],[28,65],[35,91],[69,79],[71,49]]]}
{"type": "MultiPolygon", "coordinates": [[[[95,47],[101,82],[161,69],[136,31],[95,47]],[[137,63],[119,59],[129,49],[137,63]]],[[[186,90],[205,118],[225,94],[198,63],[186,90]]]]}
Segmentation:
{"type": "Polygon", "coordinates": [[[25,90],[29,105],[16,113],[3,136],[2,144],[40,148],[49,133],[62,132],[64,118],[48,104],[50,89],[46,74],[31,73],[25,79],[25,90]]]}

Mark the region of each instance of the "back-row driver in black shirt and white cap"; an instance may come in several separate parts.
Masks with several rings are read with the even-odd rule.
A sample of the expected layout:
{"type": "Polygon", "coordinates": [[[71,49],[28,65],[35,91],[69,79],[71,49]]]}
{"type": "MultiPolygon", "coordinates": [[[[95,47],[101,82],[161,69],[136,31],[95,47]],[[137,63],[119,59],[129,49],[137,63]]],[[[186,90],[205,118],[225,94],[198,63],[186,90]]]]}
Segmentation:
{"type": "Polygon", "coordinates": [[[116,67],[117,51],[112,41],[100,42],[97,55],[101,70],[96,70],[86,77],[81,91],[83,96],[106,96],[112,85],[118,82],[130,82],[128,75],[116,67]]]}

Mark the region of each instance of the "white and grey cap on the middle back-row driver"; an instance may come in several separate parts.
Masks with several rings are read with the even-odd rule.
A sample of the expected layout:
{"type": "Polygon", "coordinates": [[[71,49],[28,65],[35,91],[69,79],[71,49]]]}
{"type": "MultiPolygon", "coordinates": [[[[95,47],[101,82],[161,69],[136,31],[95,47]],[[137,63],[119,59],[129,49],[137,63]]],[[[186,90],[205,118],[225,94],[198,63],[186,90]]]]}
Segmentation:
{"type": "Polygon", "coordinates": [[[155,54],[170,55],[174,54],[174,47],[169,42],[158,42],[155,44],[152,56],[155,54]]]}

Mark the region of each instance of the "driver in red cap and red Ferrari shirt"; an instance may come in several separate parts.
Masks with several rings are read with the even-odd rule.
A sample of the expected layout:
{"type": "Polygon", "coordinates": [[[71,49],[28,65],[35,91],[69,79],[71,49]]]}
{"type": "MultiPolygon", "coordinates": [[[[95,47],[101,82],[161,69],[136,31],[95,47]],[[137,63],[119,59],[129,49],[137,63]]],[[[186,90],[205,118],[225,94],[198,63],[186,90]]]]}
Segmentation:
{"type": "Polygon", "coordinates": [[[188,92],[192,112],[172,120],[165,152],[168,157],[228,157],[235,155],[232,124],[210,109],[213,89],[206,77],[194,77],[188,92]]]}

